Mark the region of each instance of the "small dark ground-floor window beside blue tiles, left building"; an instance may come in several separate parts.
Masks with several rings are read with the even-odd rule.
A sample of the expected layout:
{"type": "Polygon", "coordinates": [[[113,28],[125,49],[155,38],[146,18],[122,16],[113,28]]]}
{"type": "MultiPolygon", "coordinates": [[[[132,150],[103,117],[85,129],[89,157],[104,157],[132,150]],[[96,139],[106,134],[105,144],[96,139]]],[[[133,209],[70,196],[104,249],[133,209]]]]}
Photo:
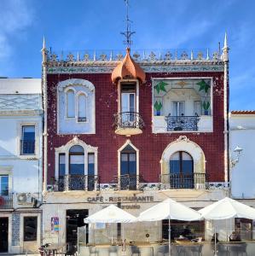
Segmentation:
{"type": "Polygon", "coordinates": [[[38,217],[24,217],[24,241],[37,241],[38,217]]]}

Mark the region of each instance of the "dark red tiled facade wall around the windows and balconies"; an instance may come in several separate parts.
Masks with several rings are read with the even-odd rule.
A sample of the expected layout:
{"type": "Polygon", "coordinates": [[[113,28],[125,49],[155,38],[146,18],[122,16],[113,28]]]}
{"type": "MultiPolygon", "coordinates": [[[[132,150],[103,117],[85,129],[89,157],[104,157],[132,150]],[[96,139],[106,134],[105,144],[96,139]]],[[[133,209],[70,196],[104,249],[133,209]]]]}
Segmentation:
{"type": "MultiPolygon", "coordinates": [[[[110,73],[48,74],[48,182],[55,176],[55,148],[66,144],[74,135],[57,135],[56,86],[66,79],[86,79],[96,88],[96,134],[78,135],[85,143],[98,147],[98,174],[101,183],[110,182],[118,173],[118,149],[127,137],[116,135],[113,114],[118,112],[117,85],[110,73]]],[[[206,173],[211,182],[224,181],[223,73],[147,73],[146,84],[140,85],[139,109],[145,127],[141,135],[130,137],[139,149],[139,172],[147,182],[159,182],[159,160],[166,146],[185,135],[200,145],[206,156],[206,173]],[[152,133],[152,78],[213,78],[213,132],[152,133]]]]}

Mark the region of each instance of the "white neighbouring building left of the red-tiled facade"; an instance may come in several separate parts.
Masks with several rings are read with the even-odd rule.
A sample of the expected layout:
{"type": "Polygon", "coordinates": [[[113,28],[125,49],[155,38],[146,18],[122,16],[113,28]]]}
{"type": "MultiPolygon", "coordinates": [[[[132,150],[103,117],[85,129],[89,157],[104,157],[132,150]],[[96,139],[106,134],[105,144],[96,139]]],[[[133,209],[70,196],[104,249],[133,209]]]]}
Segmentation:
{"type": "Polygon", "coordinates": [[[0,253],[38,252],[41,79],[0,79],[0,253]]]}

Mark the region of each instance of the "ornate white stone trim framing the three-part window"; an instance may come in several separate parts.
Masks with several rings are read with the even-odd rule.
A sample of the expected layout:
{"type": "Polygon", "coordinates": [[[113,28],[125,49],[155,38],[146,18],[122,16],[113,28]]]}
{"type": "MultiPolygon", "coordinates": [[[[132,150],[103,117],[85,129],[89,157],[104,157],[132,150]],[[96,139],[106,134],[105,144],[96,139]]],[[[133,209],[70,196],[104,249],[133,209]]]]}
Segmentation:
{"type": "MultiPolygon", "coordinates": [[[[59,148],[55,148],[55,178],[58,179],[59,177],[59,154],[65,154],[66,157],[66,175],[69,174],[69,150],[72,146],[81,146],[84,148],[84,166],[88,166],[88,154],[94,153],[95,154],[95,175],[97,175],[97,147],[90,146],[84,141],[78,139],[78,137],[73,137],[71,141],[69,141],[66,145],[62,145],[59,148]]],[[[84,168],[84,172],[87,172],[88,169],[84,168]]],[[[87,175],[87,173],[84,173],[87,175]]]]}

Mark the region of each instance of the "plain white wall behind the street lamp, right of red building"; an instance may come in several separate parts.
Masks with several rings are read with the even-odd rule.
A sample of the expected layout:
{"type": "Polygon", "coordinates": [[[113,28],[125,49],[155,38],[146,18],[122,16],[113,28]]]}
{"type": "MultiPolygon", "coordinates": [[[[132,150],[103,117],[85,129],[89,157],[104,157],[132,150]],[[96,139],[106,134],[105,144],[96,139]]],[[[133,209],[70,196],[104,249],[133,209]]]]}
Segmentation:
{"type": "Polygon", "coordinates": [[[232,196],[255,198],[255,114],[231,114],[229,128],[230,158],[236,159],[236,146],[243,148],[239,162],[230,170],[232,196]]]}

